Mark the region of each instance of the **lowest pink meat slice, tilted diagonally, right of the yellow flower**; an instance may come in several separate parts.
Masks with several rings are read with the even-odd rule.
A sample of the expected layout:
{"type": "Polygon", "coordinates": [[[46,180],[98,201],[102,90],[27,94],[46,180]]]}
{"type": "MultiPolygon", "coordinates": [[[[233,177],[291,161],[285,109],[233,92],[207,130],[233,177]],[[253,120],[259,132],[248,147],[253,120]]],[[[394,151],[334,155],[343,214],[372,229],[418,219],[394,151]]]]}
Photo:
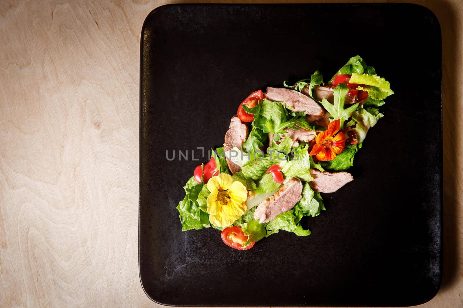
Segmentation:
{"type": "Polygon", "coordinates": [[[259,223],[268,223],[278,214],[291,210],[302,198],[301,193],[301,181],[295,177],[291,178],[273,196],[257,206],[254,219],[259,219],[259,223]]]}

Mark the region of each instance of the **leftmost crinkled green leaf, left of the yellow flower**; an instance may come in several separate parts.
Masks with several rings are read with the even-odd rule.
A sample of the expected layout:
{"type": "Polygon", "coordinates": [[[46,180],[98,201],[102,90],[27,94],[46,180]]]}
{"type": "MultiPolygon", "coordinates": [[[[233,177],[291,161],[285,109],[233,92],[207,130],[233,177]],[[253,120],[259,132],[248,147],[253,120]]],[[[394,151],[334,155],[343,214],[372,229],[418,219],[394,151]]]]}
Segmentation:
{"type": "Polygon", "coordinates": [[[196,202],[188,199],[188,195],[175,207],[179,211],[181,230],[209,228],[209,214],[201,211],[196,202]]]}

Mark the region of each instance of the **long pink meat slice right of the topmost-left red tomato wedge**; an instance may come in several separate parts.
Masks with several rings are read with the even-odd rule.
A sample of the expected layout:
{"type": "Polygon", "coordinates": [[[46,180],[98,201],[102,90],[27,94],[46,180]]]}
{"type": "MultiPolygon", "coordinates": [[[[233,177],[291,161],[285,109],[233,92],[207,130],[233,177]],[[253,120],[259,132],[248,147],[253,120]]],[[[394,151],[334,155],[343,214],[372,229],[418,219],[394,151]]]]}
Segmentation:
{"type": "Polygon", "coordinates": [[[324,109],[317,102],[298,91],[268,87],[264,97],[273,102],[286,102],[294,111],[303,111],[306,115],[321,117],[324,114],[324,109]]]}

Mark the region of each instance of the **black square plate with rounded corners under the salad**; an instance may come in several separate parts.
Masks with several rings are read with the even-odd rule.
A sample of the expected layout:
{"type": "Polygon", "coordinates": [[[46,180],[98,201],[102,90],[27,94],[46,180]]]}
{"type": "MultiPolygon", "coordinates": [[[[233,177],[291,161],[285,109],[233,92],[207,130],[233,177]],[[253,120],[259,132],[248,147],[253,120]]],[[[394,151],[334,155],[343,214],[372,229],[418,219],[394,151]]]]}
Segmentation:
{"type": "Polygon", "coordinates": [[[169,5],[146,18],[140,65],[139,270],[176,306],[409,306],[442,277],[442,64],[437,18],[409,4],[169,5]],[[395,92],[312,235],[238,251],[181,232],[175,206],[251,91],[325,80],[361,55],[395,92]],[[188,151],[188,160],[178,151],[188,151]],[[175,160],[169,161],[172,151],[175,160]],[[193,161],[194,158],[200,161],[193,161]],[[206,154],[207,156],[207,150],[206,154]]]}

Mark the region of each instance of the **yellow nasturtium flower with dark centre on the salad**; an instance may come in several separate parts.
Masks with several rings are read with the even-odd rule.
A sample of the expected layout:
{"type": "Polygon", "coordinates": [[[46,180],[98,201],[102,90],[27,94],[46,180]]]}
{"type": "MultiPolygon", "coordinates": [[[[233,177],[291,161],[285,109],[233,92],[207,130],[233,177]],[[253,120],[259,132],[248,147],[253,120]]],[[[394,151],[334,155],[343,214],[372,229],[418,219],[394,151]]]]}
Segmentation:
{"type": "Polygon", "coordinates": [[[211,192],[207,197],[207,212],[212,224],[229,226],[246,212],[248,191],[241,182],[234,182],[231,175],[213,176],[207,182],[207,189],[211,192]]]}

